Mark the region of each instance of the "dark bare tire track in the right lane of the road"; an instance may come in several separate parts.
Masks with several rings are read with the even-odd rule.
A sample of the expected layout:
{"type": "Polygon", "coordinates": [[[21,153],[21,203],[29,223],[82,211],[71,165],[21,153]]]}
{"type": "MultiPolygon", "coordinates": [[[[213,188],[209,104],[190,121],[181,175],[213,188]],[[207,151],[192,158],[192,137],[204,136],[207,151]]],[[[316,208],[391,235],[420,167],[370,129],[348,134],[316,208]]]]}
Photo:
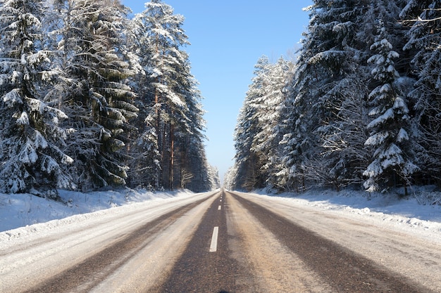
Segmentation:
{"type": "Polygon", "coordinates": [[[278,237],[306,266],[309,266],[336,292],[435,293],[387,271],[373,261],[345,249],[259,204],[232,195],[256,219],[278,237]]]}

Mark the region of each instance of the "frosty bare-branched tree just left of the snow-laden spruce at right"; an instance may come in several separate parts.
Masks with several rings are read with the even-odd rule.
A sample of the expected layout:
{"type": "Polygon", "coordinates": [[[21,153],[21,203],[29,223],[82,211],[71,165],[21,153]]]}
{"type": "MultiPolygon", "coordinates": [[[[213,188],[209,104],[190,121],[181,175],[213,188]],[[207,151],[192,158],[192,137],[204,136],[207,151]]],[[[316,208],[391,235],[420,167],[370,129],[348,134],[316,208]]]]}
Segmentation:
{"type": "Polygon", "coordinates": [[[316,172],[324,178],[324,184],[337,190],[348,185],[361,185],[371,157],[364,145],[368,138],[367,80],[354,74],[339,83],[337,89],[341,100],[333,105],[335,117],[320,129],[325,130],[321,133],[321,159],[325,168],[316,172]]]}

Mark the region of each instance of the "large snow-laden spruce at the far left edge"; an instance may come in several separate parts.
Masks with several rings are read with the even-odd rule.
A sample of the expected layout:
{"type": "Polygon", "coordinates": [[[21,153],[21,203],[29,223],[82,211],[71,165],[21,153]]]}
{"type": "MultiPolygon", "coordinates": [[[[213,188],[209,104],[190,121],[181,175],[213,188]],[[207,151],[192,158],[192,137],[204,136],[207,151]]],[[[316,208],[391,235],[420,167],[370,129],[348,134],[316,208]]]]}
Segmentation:
{"type": "MultiPolygon", "coordinates": [[[[44,1],[0,1],[0,188],[6,193],[73,188],[61,165],[73,159],[61,151],[66,114],[51,96],[56,71],[44,48],[44,1]]],[[[42,194],[42,193],[37,193],[42,194]]]]}

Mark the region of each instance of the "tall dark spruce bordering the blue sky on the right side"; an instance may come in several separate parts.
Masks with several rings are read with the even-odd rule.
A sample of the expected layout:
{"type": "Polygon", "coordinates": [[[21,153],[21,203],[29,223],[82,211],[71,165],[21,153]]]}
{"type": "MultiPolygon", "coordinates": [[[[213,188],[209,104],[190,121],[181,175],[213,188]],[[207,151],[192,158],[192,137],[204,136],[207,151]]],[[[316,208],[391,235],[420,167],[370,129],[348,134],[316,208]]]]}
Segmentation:
{"type": "Polygon", "coordinates": [[[283,181],[292,181],[294,186],[307,181],[311,185],[332,183],[323,177],[329,174],[323,153],[321,136],[329,130],[326,126],[335,118],[331,108],[337,106],[339,86],[346,74],[352,70],[352,46],[356,15],[364,6],[359,1],[313,1],[308,32],[304,34],[299,59],[290,83],[287,108],[292,108],[285,117],[290,131],[285,133],[283,161],[286,169],[283,181]],[[357,2],[357,3],[356,3],[357,2]],[[318,173],[317,171],[321,171],[318,173]],[[307,180],[306,180],[307,179],[307,180]]]}

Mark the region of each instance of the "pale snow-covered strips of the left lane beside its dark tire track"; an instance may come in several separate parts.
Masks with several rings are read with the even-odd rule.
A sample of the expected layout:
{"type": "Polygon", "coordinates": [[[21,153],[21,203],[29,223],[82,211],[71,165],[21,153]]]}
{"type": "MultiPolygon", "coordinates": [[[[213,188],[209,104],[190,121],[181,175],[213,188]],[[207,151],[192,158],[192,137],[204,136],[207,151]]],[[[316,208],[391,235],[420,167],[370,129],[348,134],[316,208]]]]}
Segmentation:
{"type": "MultiPolygon", "coordinates": [[[[179,219],[169,221],[167,227],[153,231],[151,233],[152,239],[146,237],[147,243],[139,244],[143,247],[142,251],[133,252],[139,254],[137,258],[125,259],[125,254],[128,253],[125,252],[120,256],[123,259],[113,260],[120,264],[120,269],[107,267],[92,275],[93,278],[100,278],[97,277],[97,274],[104,274],[104,277],[108,277],[106,274],[116,276],[113,280],[103,282],[95,288],[97,292],[118,292],[116,289],[118,286],[124,287],[124,282],[129,283],[129,288],[137,287],[137,282],[144,284],[142,287],[145,284],[152,284],[155,282],[155,278],[159,278],[164,268],[173,264],[173,255],[179,254],[179,249],[185,245],[186,237],[191,235],[192,229],[197,227],[201,215],[206,210],[206,205],[211,202],[206,199],[211,195],[213,193],[183,197],[153,205],[150,203],[135,204],[130,209],[116,208],[114,209],[115,213],[105,213],[98,217],[92,216],[80,222],[68,223],[66,221],[66,225],[42,230],[40,233],[29,233],[25,237],[15,235],[16,237],[0,242],[0,292],[90,292],[90,287],[96,285],[94,280],[82,282],[80,287],[75,290],[74,288],[66,289],[66,284],[63,283],[66,280],[59,281],[61,285],[64,284],[63,288],[52,287],[53,291],[42,289],[39,285],[42,285],[40,282],[45,280],[57,283],[58,280],[54,279],[56,275],[66,273],[75,266],[85,263],[88,259],[104,252],[106,248],[115,247],[118,242],[124,242],[125,237],[128,237],[133,231],[137,231],[170,211],[199,200],[205,200],[203,204],[192,207],[192,216],[181,215],[179,219]],[[158,235],[159,232],[161,235],[158,235]],[[149,259],[149,261],[145,263],[145,259],[149,259]],[[149,265],[147,275],[132,274],[133,271],[136,271],[132,271],[132,268],[146,265],[149,265]],[[113,282],[114,280],[119,280],[118,286],[113,282]]],[[[108,258],[110,256],[103,254],[102,257],[108,258]]],[[[111,263],[108,265],[111,266],[111,263]]],[[[63,278],[66,278],[66,274],[63,275],[63,278]]],[[[73,275],[73,278],[77,278],[77,275],[73,275]]],[[[52,284],[43,285],[52,286],[52,284]]],[[[129,289],[125,292],[142,291],[129,289]]]]}

